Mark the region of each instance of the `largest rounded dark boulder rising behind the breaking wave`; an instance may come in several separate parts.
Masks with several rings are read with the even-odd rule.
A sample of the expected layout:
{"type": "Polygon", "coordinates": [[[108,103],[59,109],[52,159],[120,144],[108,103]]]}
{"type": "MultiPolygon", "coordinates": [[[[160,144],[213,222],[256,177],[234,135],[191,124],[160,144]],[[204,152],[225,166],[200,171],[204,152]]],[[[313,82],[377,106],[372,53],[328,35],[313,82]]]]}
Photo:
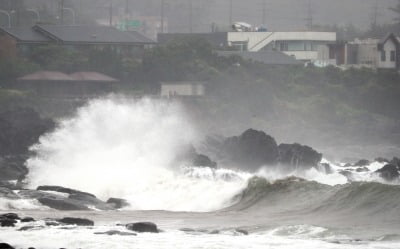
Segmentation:
{"type": "Polygon", "coordinates": [[[275,139],[253,129],[238,137],[227,138],[222,145],[221,154],[229,163],[250,171],[273,165],[279,158],[275,139]]]}

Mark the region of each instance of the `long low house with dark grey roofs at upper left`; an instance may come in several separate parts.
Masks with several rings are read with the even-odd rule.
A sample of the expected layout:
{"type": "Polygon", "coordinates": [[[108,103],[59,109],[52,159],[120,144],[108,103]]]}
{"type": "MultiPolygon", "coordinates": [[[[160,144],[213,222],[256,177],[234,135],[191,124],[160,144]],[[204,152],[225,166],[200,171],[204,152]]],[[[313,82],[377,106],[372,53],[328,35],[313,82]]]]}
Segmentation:
{"type": "Polygon", "coordinates": [[[35,25],[26,28],[0,28],[0,47],[9,55],[29,53],[36,46],[57,44],[77,50],[109,47],[123,55],[138,55],[155,44],[135,31],[120,31],[109,26],[35,25]]]}

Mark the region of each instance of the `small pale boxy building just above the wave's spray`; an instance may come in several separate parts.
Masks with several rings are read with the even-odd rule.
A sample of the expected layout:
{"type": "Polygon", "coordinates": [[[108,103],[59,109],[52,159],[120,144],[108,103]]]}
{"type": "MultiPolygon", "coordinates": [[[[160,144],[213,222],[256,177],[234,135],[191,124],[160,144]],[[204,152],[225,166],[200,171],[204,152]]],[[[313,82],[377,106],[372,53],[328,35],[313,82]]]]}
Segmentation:
{"type": "Polygon", "coordinates": [[[200,81],[161,82],[162,97],[199,97],[205,95],[205,83],[200,81]]]}

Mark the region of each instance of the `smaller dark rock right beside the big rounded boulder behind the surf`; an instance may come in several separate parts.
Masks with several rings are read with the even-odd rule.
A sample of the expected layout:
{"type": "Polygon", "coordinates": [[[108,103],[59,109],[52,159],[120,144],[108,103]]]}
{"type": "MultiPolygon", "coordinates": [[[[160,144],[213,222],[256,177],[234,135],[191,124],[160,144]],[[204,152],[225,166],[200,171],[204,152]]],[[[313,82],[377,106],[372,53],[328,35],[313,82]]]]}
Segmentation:
{"type": "Polygon", "coordinates": [[[318,167],[322,154],[313,148],[300,144],[280,144],[279,162],[290,169],[318,167]]]}

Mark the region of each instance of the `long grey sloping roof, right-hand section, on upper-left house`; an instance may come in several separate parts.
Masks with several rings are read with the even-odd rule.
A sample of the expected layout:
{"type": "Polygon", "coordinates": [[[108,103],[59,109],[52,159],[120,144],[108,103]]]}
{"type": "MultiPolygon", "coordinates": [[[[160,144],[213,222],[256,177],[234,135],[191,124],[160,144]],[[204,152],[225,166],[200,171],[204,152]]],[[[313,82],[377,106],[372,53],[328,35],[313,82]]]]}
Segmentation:
{"type": "Polygon", "coordinates": [[[63,43],[154,43],[138,32],[120,31],[109,26],[36,25],[34,29],[51,39],[63,43]]]}

